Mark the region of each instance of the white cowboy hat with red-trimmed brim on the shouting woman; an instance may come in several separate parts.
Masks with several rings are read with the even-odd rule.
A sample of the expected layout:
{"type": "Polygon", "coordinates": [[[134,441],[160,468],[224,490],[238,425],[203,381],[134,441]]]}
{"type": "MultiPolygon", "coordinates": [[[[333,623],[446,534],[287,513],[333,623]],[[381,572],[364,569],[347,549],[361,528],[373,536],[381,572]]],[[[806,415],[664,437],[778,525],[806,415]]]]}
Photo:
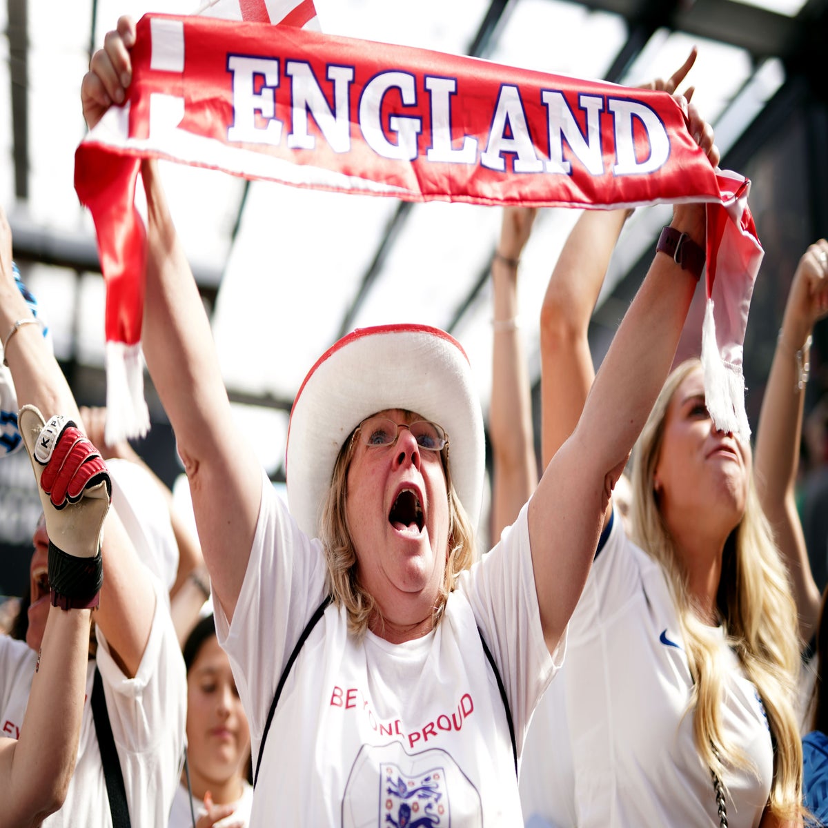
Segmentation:
{"type": "Polygon", "coordinates": [[[316,537],[344,441],[367,416],[416,412],[445,429],[449,467],[472,526],[483,495],[483,415],[469,359],[453,337],[426,325],[361,328],[322,354],[302,383],[287,431],[287,499],[303,532],[316,537]]]}

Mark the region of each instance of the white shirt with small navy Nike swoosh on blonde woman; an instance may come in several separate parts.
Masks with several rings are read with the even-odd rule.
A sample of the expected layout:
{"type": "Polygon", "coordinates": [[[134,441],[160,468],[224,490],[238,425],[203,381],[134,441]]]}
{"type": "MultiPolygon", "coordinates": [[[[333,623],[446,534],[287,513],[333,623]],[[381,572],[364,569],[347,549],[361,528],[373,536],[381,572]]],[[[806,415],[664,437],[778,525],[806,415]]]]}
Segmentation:
{"type": "MultiPolygon", "coordinates": [[[[729,826],[758,826],[773,777],[768,721],[721,633],[732,669],[724,734],[756,763],[729,768],[729,826]]],[[[619,520],[570,619],[566,667],[527,734],[521,799],[527,824],[717,826],[710,768],[685,715],[693,686],[661,566],[629,541],[619,520]]]]}

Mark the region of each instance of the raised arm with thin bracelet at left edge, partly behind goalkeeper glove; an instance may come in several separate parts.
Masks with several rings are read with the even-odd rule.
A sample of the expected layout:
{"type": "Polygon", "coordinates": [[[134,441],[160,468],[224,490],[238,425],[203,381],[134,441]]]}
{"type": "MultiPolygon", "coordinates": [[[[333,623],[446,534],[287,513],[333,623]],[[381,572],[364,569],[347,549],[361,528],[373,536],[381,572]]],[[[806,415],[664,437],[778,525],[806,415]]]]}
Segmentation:
{"type": "MultiPolygon", "coordinates": [[[[7,332],[18,320],[26,319],[31,319],[31,311],[14,283],[12,233],[0,211],[0,330],[7,332]]],[[[38,325],[22,325],[17,330],[8,341],[6,359],[19,405],[36,406],[46,420],[62,414],[81,424],[75,398],[38,325]]],[[[107,517],[103,562],[107,582],[95,624],[103,630],[123,672],[134,676],[149,639],[155,595],[114,509],[107,517]]]]}

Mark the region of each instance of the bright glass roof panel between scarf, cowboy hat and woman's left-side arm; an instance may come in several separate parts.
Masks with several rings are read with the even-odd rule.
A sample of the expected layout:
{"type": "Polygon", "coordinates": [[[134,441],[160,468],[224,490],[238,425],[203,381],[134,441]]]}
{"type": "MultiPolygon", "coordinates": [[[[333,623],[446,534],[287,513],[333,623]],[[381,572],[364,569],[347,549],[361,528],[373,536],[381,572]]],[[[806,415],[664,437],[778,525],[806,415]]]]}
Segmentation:
{"type": "Polygon", "coordinates": [[[397,202],[250,188],[214,316],[232,388],[292,399],[332,344],[397,202]]]}

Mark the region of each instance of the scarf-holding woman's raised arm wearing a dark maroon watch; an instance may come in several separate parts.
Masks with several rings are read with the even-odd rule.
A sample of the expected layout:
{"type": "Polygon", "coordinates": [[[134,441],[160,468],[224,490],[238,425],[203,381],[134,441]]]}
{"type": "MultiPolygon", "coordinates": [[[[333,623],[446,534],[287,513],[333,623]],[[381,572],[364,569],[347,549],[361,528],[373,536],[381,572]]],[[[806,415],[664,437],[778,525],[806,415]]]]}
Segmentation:
{"type": "MultiPolygon", "coordinates": [[[[713,130],[692,106],[690,130],[714,166],[713,130]]],[[[704,205],[676,205],[671,226],[705,247],[704,205]]],[[[572,435],[546,467],[529,504],[541,622],[555,647],[583,590],[615,481],[662,388],[696,278],[657,253],[619,326],[572,435]]]]}

